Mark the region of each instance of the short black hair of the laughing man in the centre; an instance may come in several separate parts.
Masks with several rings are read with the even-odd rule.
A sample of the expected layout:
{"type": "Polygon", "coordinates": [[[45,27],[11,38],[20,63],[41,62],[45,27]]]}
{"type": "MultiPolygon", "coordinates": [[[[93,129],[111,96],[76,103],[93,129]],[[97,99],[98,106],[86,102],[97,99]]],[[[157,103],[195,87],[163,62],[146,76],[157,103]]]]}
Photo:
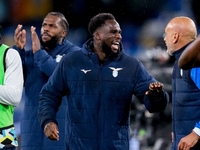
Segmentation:
{"type": "Polygon", "coordinates": [[[111,13],[99,13],[90,19],[88,25],[88,31],[91,35],[102,25],[105,24],[106,20],[115,20],[115,17],[111,13]]]}

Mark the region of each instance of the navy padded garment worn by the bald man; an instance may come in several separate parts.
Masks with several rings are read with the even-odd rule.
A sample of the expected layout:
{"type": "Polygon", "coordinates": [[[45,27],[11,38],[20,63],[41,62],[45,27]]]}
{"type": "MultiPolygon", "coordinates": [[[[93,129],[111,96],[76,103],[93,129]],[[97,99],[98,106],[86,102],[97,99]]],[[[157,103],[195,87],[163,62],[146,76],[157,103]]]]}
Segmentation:
{"type": "MultiPolygon", "coordinates": [[[[178,149],[181,138],[190,134],[195,124],[200,121],[200,90],[190,76],[191,69],[182,70],[178,67],[179,57],[186,46],[173,53],[176,62],[172,76],[172,128],[174,133],[172,150],[178,149]]],[[[200,150],[199,142],[194,149],[200,150]]]]}

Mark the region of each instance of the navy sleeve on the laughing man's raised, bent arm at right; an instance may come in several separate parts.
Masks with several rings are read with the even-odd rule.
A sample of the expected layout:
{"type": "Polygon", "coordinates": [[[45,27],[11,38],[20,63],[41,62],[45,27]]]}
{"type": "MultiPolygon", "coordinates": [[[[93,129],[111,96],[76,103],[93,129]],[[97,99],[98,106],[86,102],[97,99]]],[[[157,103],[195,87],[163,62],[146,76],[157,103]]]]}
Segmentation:
{"type": "Polygon", "coordinates": [[[147,96],[146,91],[149,91],[150,83],[157,82],[144,68],[140,62],[137,66],[137,83],[135,84],[135,96],[144,103],[149,112],[158,112],[165,109],[169,102],[169,95],[164,90],[162,92],[151,92],[147,96]]]}

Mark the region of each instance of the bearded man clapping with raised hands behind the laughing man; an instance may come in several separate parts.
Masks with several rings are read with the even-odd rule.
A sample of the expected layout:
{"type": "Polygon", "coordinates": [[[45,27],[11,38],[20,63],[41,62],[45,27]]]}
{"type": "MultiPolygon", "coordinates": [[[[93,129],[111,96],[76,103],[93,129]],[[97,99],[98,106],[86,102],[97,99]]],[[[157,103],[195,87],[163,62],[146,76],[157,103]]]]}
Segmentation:
{"type": "MultiPolygon", "coordinates": [[[[20,53],[25,76],[25,104],[21,120],[21,149],[22,150],[58,150],[64,147],[64,134],[60,141],[53,142],[45,137],[37,117],[39,92],[47,82],[63,56],[79,49],[66,40],[69,24],[63,14],[50,12],[44,18],[40,39],[35,27],[31,27],[32,49],[24,50],[26,31],[22,25],[15,30],[14,46],[20,53]]],[[[66,100],[63,100],[57,110],[58,126],[64,132],[66,100]]]]}

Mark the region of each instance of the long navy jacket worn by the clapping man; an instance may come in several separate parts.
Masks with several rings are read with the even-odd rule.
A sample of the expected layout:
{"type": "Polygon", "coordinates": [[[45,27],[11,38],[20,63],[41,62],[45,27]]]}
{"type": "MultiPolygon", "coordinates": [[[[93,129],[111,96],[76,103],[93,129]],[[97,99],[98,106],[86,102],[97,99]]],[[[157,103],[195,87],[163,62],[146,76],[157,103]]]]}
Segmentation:
{"type": "MultiPolygon", "coordinates": [[[[57,44],[52,51],[38,50],[33,54],[32,50],[21,50],[14,46],[20,53],[24,77],[25,77],[25,104],[21,124],[21,149],[22,150],[58,150],[64,149],[64,140],[59,142],[46,138],[37,116],[39,93],[43,85],[53,73],[59,59],[71,51],[80,49],[71,42],[64,40],[63,44],[57,44]]],[[[64,120],[66,103],[60,106],[57,113],[58,127],[64,132],[64,120]]],[[[64,139],[64,134],[60,134],[64,139]]]]}

